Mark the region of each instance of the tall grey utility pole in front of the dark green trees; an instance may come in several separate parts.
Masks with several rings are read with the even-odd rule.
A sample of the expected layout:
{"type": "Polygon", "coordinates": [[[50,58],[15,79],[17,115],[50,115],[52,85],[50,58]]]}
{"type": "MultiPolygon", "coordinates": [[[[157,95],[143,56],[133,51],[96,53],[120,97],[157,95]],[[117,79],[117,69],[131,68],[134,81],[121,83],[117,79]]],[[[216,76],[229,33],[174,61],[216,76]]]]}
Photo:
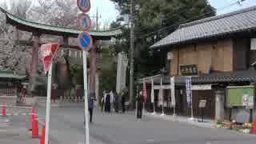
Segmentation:
{"type": "Polygon", "coordinates": [[[134,107],[134,1],[130,0],[130,103],[134,107]]]}

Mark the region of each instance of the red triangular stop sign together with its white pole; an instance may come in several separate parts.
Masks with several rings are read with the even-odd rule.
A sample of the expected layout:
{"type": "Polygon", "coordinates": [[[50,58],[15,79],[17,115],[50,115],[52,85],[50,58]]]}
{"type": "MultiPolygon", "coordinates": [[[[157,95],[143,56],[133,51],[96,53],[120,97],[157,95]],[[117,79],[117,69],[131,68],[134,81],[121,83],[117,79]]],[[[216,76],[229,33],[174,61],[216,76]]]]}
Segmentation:
{"type": "Polygon", "coordinates": [[[49,142],[49,126],[50,126],[50,91],[51,91],[51,74],[52,74],[52,61],[58,51],[58,43],[50,43],[41,46],[42,63],[45,74],[48,72],[47,83],[47,100],[46,100],[46,138],[45,144],[49,142]]]}

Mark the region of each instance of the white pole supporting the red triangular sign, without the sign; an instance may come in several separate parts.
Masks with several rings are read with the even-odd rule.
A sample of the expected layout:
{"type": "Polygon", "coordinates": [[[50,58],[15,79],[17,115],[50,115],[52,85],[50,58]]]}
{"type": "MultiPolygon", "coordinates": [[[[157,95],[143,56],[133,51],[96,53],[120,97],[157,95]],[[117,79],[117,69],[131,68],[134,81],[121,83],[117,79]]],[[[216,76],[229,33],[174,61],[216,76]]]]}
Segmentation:
{"type": "Polygon", "coordinates": [[[49,127],[50,127],[50,92],[51,92],[51,73],[53,70],[53,64],[50,64],[48,71],[48,83],[47,83],[47,100],[46,100],[46,138],[45,144],[49,142],[49,127]]]}

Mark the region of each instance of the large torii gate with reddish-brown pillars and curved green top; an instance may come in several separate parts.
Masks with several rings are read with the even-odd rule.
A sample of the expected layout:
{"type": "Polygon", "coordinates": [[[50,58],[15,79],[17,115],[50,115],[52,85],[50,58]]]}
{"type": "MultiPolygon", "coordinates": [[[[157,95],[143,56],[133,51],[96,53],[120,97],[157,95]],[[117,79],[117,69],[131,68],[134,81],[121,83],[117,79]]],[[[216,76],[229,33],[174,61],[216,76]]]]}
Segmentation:
{"type": "MultiPolygon", "coordinates": [[[[6,23],[16,27],[17,30],[23,30],[26,32],[32,33],[33,40],[32,41],[18,41],[19,43],[23,43],[26,45],[30,45],[33,47],[32,50],[32,61],[30,65],[30,78],[29,78],[29,86],[30,91],[34,90],[34,83],[36,78],[36,68],[38,66],[38,50],[39,46],[42,44],[40,42],[40,36],[42,34],[50,34],[55,36],[61,36],[61,48],[68,48],[74,50],[81,50],[78,46],[69,46],[69,38],[78,38],[78,34],[80,34],[81,30],[70,29],[62,26],[51,26],[38,22],[31,22],[23,18],[18,18],[14,16],[14,14],[10,14],[6,10],[3,10],[0,7],[0,10],[6,14],[6,23]]],[[[95,74],[96,74],[96,42],[98,40],[110,40],[112,37],[122,34],[122,30],[112,29],[112,30],[90,30],[90,35],[93,38],[93,48],[90,50],[90,94],[95,94],[95,74]]]]}

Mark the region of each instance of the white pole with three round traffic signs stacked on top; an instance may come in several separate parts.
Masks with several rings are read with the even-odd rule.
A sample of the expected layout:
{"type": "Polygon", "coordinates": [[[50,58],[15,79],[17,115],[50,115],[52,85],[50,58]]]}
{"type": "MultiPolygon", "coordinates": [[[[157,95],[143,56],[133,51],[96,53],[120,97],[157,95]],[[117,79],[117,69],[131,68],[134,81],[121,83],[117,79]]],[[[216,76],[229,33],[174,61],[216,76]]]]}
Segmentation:
{"type": "Polygon", "coordinates": [[[86,31],[90,30],[91,21],[90,17],[85,14],[90,10],[90,0],[77,0],[78,8],[83,12],[78,16],[78,26],[80,29],[84,30],[78,35],[78,44],[82,49],[83,58],[83,83],[84,83],[84,100],[85,100],[85,134],[86,134],[86,144],[90,144],[90,134],[89,134],[89,114],[88,114],[88,90],[87,90],[87,51],[92,47],[93,39],[90,37],[86,31]]]}

